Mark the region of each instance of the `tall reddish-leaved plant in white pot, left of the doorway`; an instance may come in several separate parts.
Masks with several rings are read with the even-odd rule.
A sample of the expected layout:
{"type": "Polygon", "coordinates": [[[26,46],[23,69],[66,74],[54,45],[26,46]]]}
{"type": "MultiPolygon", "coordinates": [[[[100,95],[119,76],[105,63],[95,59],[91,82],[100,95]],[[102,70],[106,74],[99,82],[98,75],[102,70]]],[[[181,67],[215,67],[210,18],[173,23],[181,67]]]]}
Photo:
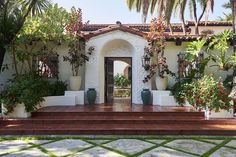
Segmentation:
{"type": "MultiPolygon", "coordinates": [[[[81,76],[79,76],[80,67],[89,60],[86,55],[84,48],[84,41],[80,40],[81,30],[88,24],[88,22],[83,23],[82,20],[82,10],[71,9],[71,15],[69,21],[66,25],[67,41],[69,46],[69,51],[67,56],[63,56],[64,61],[68,61],[71,65],[72,76],[69,78],[70,89],[77,91],[81,86],[81,76]]],[[[88,55],[91,55],[93,47],[89,48],[88,55]]]]}

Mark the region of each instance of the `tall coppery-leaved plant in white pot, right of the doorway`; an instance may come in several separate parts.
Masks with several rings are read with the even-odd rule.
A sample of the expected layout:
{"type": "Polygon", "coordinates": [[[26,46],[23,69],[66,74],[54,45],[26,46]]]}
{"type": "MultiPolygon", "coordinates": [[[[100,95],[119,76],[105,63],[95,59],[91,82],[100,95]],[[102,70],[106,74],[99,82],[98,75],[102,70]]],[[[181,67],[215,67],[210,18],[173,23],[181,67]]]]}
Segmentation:
{"type": "Polygon", "coordinates": [[[149,46],[145,47],[143,57],[143,67],[149,72],[143,82],[148,82],[153,76],[156,76],[156,87],[158,90],[165,90],[167,88],[167,75],[175,76],[169,70],[166,58],[164,57],[165,36],[167,34],[165,34],[165,24],[163,21],[163,18],[152,20],[148,35],[149,46]]]}

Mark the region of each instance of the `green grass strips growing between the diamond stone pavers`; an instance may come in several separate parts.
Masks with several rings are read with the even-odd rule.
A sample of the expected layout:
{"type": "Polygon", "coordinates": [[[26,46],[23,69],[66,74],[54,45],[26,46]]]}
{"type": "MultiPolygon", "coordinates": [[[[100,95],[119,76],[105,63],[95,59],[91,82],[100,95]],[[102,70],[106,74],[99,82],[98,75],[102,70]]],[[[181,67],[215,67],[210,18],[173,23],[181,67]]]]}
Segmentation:
{"type": "Polygon", "coordinates": [[[73,154],[76,154],[76,153],[79,153],[79,152],[82,152],[82,151],[85,151],[85,150],[88,150],[88,149],[91,149],[91,148],[94,148],[94,147],[101,147],[101,148],[107,149],[109,151],[112,151],[114,153],[118,153],[118,154],[120,154],[122,156],[125,156],[125,157],[138,157],[139,155],[144,154],[146,152],[149,152],[152,149],[156,149],[158,147],[165,147],[165,148],[169,148],[169,149],[172,149],[172,150],[175,150],[175,151],[183,152],[185,154],[200,156],[198,154],[194,154],[194,153],[188,152],[186,150],[173,148],[173,147],[170,147],[170,146],[166,145],[169,142],[172,142],[174,140],[180,140],[180,139],[181,140],[183,140],[183,139],[184,140],[196,140],[196,141],[205,142],[205,143],[215,145],[212,149],[208,150],[203,155],[201,155],[201,157],[208,157],[208,156],[210,156],[211,154],[213,154],[214,152],[216,152],[217,150],[219,150],[222,147],[227,147],[227,148],[236,150],[236,148],[234,148],[234,147],[226,146],[226,144],[228,142],[230,142],[231,140],[236,140],[236,138],[235,137],[227,137],[227,136],[226,137],[222,137],[222,136],[221,137],[217,137],[217,136],[215,136],[215,137],[214,136],[213,137],[210,137],[210,136],[131,136],[131,137],[129,137],[129,136],[123,136],[123,137],[122,136],[108,136],[108,137],[106,137],[106,136],[104,136],[104,137],[96,137],[96,136],[95,137],[76,137],[76,136],[75,137],[73,137],[73,136],[72,137],[61,137],[61,136],[57,136],[57,137],[46,137],[46,136],[45,137],[40,137],[40,136],[32,136],[32,137],[0,137],[0,146],[1,146],[1,142],[5,141],[5,140],[24,140],[28,144],[30,144],[30,147],[23,148],[23,149],[20,149],[20,150],[14,150],[12,152],[8,152],[8,153],[2,154],[2,155],[12,154],[12,153],[16,153],[16,152],[19,152],[19,151],[31,149],[31,148],[37,148],[40,151],[44,152],[45,154],[48,154],[51,157],[55,157],[56,155],[53,154],[53,152],[50,152],[47,149],[43,148],[42,145],[52,143],[52,142],[56,142],[56,141],[60,141],[60,140],[64,140],[64,139],[78,139],[78,140],[85,141],[85,142],[92,145],[90,147],[83,148],[81,150],[72,152],[72,154],[68,154],[66,156],[70,156],[70,155],[73,155],[73,154]],[[137,139],[137,140],[141,140],[141,141],[144,141],[144,142],[151,143],[151,144],[153,144],[153,146],[150,147],[150,148],[147,148],[147,149],[145,149],[141,152],[138,152],[136,154],[130,155],[130,154],[121,152],[119,150],[109,148],[105,145],[106,143],[109,143],[109,142],[112,142],[112,141],[115,141],[115,140],[118,140],[118,139],[137,139]],[[156,139],[156,140],[165,140],[165,141],[160,143],[160,144],[148,141],[148,140],[154,140],[154,139],[156,139]],[[30,140],[48,140],[48,142],[43,143],[43,144],[34,144],[34,143],[30,142],[30,140]],[[96,141],[93,141],[93,140],[109,140],[109,141],[104,142],[102,144],[98,144],[98,143],[96,143],[96,141]],[[211,142],[211,141],[207,141],[207,140],[222,140],[222,142],[217,144],[215,142],[211,142]]]}

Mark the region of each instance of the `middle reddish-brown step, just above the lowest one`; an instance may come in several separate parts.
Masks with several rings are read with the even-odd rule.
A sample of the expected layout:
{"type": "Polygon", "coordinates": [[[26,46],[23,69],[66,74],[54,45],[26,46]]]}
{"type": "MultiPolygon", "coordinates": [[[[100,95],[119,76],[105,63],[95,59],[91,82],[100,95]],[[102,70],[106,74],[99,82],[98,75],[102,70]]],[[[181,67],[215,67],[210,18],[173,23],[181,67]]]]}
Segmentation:
{"type": "MultiPolygon", "coordinates": [[[[84,117],[83,117],[84,118],[84,117]]],[[[1,121],[1,125],[19,125],[19,124],[224,124],[224,125],[236,125],[236,120],[205,120],[205,119],[180,119],[176,118],[114,118],[106,119],[105,117],[87,119],[77,118],[62,118],[62,119],[40,119],[40,118],[29,118],[29,119],[5,119],[1,121]]]]}

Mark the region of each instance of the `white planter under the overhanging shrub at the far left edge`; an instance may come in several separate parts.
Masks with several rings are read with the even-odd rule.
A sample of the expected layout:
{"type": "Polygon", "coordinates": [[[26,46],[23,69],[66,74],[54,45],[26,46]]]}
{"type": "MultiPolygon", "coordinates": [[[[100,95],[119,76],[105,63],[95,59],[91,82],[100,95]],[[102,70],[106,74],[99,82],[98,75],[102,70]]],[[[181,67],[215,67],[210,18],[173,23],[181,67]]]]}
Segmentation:
{"type": "MultiPolygon", "coordinates": [[[[3,110],[5,108],[3,107],[3,110]]],[[[31,116],[31,113],[25,111],[25,105],[24,104],[17,104],[14,108],[13,112],[5,115],[8,118],[28,118],[31,116]]]]}

